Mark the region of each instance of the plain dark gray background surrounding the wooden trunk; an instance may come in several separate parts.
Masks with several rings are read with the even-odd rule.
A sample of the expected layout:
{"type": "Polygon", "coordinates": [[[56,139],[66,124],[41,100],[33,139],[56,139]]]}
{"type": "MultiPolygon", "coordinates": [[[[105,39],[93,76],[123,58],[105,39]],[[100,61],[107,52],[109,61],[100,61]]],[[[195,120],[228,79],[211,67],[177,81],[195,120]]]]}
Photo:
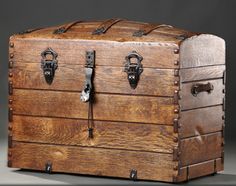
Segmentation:
{"type": "MultiPolygon", "coordinates": [[[[213,33],[226,40],[227,101],[225,172],[227,174],[225,174],[226,177],[216,176],[210,178],[210,181],[213,180],[214,183],[214,179],[223,179],[226,182],[227,180],[231,180],[233,181],[232,183],[236,183],[235,172],[232,167],[236,167],[235,151],[233,149],[235,145],[234,134],[236,132],[236,114],[234,114],[236,110],[236,99],[233,97],[236,95],[236,76],[234,75],[234,72],[236,72],[235,7],[236,3],[233,0],[1,0],[0,139],[5,142],[7,137],[8,38],[11,34],[28,28],[53,26],[74,20],[107,19],[114,17],[144,22],[166,23],[191,31],[213,33]]],[[[1,169],[5,167],[5,150],[6,143],[0,143],[0,156],[3,157],[0,164],[0,170],[2,171],[8,171],[6,168],[1,169]]],[[[18,176],[20,174],[24,173],[17,173],[18,176]]],[[[27,175],[27,173],[25,174],[27,175]]],[[[4,174],[0,173],[0,177],[1,175],[4,174]]],[[[28,179],[30,180],[30,178],[28,179]]],[[[53,178],[51,177],[51,179],[53,178]]],[[[60,180],[61,177],[58,179],[60,180]]],[[[68,181],[68,183],[77,183],[77,179],[77,177],[76,179],[68,177],[68,180],[72,180],[71,182],[68,181]]],[[[5,177],[5,180],[7,180],[7,177],[5,177]]],[[[27,179],[24,180],[26,181],[27,179]]],[[[61,179],[61,181],[63,180],[66,180],[66,178],[61,179]]],[[[101,182],[94,181],[94,183],[101,182]]],[[[221,182],[215,181],[215,183],[221,182]]]]}

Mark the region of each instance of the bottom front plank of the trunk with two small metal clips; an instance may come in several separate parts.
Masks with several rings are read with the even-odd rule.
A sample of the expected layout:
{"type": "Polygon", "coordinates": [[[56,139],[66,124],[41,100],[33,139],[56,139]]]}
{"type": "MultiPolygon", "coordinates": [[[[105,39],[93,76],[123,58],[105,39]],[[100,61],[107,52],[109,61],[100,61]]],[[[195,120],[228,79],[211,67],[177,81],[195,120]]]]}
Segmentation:
{"type": "Polygon", "coordinates": [[[101,148],[69,147],[14,142],[12,167],[45,170],[50,161],[54,172],[129,178],[136,169],[138,179],[172,181],[172,154],[101,148]]]}

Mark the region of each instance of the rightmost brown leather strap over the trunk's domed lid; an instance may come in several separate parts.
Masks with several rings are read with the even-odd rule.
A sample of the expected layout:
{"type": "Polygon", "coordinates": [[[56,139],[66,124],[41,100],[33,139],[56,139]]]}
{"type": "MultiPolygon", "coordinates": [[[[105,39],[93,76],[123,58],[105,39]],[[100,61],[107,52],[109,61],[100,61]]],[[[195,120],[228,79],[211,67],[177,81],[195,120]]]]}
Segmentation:
{"type": "Polygon", "coordinates": [[[161,25],[147,24],[147,25],[143,26],[143,28],[140,28],[138,31],[135,31],[133,33],[133,36],[142,37],[144,35],[148,35],[153,30],[156,30],[156,29],[162,28],[162,27],[173,28],[171,25],[165,25],[165,24],[161,24],[161,25]]]}

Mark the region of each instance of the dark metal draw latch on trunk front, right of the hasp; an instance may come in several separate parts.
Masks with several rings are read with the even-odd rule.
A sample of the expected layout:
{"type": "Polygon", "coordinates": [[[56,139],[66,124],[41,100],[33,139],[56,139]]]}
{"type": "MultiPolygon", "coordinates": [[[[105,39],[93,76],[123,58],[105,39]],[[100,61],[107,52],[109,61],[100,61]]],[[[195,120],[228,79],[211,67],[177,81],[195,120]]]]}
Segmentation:
{"type": "Polygon", "coordinates": [[[139,76],[143,72],[143,65],[141,64],[141,61],[143,60],[143,57],[139,55],[137,52],[132,51],[128,54],[128,56],[125,57],[125,69],[124,71],[128,75],[129,84],[132,89],[135,89],[138,85],[139,76]],[[136,58],[136,63],[131,63],[131,58],[136,58]]]}

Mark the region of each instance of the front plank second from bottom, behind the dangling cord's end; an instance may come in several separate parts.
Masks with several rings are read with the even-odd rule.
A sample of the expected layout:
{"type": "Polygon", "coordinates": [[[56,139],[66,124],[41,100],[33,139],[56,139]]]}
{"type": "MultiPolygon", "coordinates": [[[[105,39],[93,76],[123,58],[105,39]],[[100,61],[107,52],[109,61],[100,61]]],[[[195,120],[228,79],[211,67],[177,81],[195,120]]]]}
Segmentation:
{"type": "Polygon", "coordinates": [[[94,121],[88,138],[86,120],[14,116],[13,140],[172,153],[172,126],[94,121]]]}

